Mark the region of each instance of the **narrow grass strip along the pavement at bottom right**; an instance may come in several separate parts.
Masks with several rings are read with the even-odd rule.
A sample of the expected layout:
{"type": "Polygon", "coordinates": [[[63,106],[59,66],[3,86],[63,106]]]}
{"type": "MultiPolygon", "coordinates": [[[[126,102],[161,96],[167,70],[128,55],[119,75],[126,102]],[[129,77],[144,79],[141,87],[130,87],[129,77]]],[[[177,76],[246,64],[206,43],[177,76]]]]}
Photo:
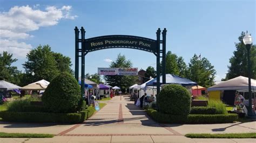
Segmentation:
{"type": "Polygon", "coordinates": [[[186,134],[187,138],[256,138],[256,133],[224,133],[224,134],[210,134],[210,133],[191,133],[186,134]]]}

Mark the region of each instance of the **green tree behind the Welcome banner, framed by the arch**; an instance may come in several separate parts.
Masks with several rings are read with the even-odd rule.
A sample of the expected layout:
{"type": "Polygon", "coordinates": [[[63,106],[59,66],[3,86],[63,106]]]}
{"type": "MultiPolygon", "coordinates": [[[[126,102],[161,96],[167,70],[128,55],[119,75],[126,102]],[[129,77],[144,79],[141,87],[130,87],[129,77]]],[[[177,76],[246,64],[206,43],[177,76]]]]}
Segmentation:
{"type": "MultiPolygon", "coordinates": [[[[112,61],[110,68],[131,68],[132,62],[126,60],[125,55],[118,54],[116,61],[112,61]]],[[[109,83],[112,87],[119,86],[122,91],[129,88],[135,83],[137,76],[129,75],[106,75],[104,76],[106,83],[109,83]]]]}

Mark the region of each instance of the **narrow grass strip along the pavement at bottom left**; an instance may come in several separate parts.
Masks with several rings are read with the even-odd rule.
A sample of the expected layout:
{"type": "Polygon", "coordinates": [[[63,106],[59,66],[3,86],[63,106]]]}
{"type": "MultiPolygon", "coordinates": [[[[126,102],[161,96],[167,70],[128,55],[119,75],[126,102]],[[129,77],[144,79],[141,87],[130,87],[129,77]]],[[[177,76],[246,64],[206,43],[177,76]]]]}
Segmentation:
{"type": "Polygon", "coordinates": [[[0,132],[0,138],[52,138],[52,137],[54,137],[53,134],[0,132]]]}

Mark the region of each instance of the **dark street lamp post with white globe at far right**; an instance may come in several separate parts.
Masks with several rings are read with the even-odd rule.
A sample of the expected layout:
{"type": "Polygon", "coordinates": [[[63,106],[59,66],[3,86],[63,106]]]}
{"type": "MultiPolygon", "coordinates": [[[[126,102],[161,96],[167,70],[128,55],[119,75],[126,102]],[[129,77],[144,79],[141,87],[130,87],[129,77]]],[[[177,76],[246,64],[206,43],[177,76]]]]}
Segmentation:
{"type": "Polygon", "coordinates": [[[251,87],[251,60],[250,60],[250,49],[251,49],[251,44],[252,44],[252,37],[250,34],[246,32],[245,37],[242,39],[244,42],[246,49],[247,49],[247,59],[248,59],[248,93],[249,93],[249,107],[248,107],[248,117],[253,116],[252,112],[252,87],[251,87]]]}

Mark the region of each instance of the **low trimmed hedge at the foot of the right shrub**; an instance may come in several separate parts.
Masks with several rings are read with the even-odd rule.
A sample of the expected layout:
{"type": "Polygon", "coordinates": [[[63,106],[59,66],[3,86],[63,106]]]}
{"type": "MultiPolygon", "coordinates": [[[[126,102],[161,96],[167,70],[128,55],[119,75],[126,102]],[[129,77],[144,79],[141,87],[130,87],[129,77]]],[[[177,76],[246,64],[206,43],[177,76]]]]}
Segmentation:
{"type": "Polygon", "coordinates": [[[159,123],[186,123],[186,124],[214,124],[214,123],[233,123],[238,119],[237,114],[226,115],[168,115],[153,109],[146,111],[147,114],[159,123]]]}

